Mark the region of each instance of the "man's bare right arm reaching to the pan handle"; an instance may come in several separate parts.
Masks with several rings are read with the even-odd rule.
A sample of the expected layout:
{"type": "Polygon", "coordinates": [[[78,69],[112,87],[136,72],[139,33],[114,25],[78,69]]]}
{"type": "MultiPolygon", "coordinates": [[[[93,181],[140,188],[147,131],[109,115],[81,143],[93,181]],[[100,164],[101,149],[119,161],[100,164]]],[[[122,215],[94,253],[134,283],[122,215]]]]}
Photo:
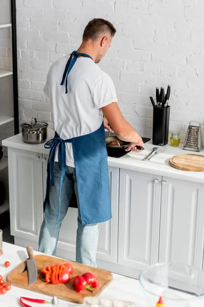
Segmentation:
{"type": "MultiPolygon", "coordinates": [[[[118,139],[126,142],[131,142],[126,150],[134,148],[136,145],[144,147],[142,138],[137,134],[134,128],[125,120],[117,102],[112,102],[101,108],[104,116],[108,120],[111,128],[118,139]]],[[[134,151],[139,151],[134,150],[134,151]]]]}

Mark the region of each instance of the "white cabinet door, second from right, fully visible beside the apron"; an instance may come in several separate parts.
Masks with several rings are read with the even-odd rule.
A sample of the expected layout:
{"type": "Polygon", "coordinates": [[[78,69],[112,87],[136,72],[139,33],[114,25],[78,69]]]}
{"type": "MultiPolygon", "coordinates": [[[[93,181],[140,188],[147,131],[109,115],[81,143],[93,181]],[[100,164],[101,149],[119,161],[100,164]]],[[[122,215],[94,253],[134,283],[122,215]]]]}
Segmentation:
{"type": "Polygon", "coordinates": [[[158,262],[161,177],[120,169],[119,191],[118,264],[140,271],[158,262]]]}

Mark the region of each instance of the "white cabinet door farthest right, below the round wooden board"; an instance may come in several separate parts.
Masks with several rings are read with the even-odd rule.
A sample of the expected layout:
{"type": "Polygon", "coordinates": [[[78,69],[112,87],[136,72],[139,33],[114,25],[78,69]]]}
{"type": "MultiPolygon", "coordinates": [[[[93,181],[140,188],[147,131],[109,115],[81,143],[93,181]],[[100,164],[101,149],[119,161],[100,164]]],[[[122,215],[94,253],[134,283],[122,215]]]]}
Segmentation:
{"type": "Polygon", "coordinates": [[[162,179],[159,261],[202,268],[204,185],[162,179]]]}

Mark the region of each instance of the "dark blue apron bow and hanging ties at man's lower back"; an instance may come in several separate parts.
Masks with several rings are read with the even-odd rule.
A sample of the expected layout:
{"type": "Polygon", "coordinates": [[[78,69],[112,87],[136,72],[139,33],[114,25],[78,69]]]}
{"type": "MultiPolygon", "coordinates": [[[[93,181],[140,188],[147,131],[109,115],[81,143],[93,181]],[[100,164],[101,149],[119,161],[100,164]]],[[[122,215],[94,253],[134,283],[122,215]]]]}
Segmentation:
{"type": "Polygon", "coordinates": [[[64,182],[64,177],[65,177],[65,171],[66,171],[66,149],[65,149],[65,143],[72,143],[72,139],[67,139],[63,140],[60,138],[60,136],[57,134],[55,131],[55,137],[49,141],[47,141],[44,144],[44,148],[50,149],[49,152],[49,176],[50,176],[50,184],[49,186],[54,186],[54,162],[55,162],[55,151],[56,148],[59,144],[58,148],[58,161],[59,161],[59,166],[60,166],[60,191],[59,191],[59,211],[58,211],[58,217],[57,220],[59,220],[60,217],[60,208],[61,208],[61,192],[62,192],[62,186],[64,182]],[[49,145],[48,143],[53,141],[52,145],[49,145]]]}

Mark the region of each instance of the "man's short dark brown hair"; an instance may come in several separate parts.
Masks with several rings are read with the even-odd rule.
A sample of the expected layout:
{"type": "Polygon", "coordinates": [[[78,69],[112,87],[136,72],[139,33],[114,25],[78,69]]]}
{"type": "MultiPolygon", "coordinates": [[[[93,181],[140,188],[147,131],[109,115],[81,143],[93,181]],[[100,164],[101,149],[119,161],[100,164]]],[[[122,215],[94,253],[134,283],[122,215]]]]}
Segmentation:
{"type": "Polygon", "coordinates": [[[89,21],[88,25],[84,29],[83,40],[86,41],[91,39],[96,41],[100,38],[101,35],[105,35],[109,31],[113,37],[116,33],[116,29],[110,23],[110,21],[102,18],[94,18],[89,21]]]}

